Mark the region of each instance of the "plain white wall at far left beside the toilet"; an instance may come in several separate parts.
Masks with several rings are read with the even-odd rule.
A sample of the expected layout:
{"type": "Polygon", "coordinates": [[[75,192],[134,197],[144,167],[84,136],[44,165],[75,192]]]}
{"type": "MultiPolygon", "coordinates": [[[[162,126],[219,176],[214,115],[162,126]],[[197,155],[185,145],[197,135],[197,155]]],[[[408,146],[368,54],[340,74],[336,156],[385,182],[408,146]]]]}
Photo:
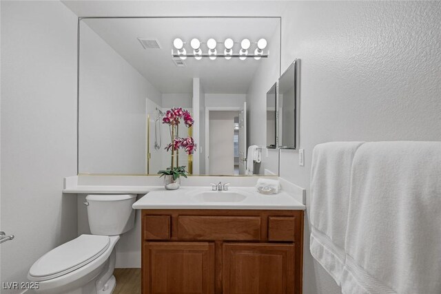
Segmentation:
{"type": "MultiPolygon", "coordinates": [[[[1,1],[1,282],[76,237],[76,16],[59,1],[1,1]]],[[[2,290],[1,293],[17,293],[2,290]]]]}

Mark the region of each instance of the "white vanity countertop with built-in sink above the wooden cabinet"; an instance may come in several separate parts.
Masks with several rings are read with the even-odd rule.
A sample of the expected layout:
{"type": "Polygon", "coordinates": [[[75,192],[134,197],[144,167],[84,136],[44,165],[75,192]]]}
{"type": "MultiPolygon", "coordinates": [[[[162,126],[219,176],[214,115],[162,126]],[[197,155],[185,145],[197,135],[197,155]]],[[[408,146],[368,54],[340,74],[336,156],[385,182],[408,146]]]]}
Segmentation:
{"type": "MultiPolygon", "coordinates": [[[[305,210],[291,194],[280,191],[264,195],[254,187],[230,187],[229,192],[243,193],[247,197],[238,202],[201,202],[195,195],[201,192],[218,193],[220,198],[226,191],[211,191],[210,187],[181,187],[177,190],[154,189],[133,204],[134,209],[267,209],[305,210]]],[[[217,194],[216,194],[217,195],[217,194]]],[[[226,196],[226,194],[225,194],[226,196]]]]}

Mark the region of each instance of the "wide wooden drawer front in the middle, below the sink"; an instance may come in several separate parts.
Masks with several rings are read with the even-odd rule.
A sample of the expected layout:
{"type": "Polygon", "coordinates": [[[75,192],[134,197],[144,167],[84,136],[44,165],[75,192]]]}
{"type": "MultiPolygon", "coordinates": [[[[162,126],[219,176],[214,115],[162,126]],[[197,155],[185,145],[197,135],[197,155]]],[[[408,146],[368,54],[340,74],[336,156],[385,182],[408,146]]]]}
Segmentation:
{"type": "Polygon", "coordinates": [[[258,216],[179,216],[179,240],[260,240],[258,216]]]}

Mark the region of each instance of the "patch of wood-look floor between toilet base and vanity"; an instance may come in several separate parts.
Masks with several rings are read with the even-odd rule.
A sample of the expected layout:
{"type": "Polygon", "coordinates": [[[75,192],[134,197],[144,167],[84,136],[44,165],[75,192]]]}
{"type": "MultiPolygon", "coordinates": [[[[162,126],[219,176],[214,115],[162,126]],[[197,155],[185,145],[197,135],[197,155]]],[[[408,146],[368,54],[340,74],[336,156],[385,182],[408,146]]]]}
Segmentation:
{"type": "Polygon", "coordinates": [[[113,294],[141,294],[141,269],[115,269],[116,288],[113,294]]]}

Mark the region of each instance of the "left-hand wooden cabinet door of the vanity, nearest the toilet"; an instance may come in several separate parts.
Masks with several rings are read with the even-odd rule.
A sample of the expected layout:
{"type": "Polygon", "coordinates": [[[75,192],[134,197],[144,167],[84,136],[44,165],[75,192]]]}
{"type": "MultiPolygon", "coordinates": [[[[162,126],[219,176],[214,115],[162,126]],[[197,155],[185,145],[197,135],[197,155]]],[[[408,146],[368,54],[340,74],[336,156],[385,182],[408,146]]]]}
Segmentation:
{"type": "Polygon", "coordinates": [[[144,294],[214,293],[214,244],[145,242],[144,294]]]}

